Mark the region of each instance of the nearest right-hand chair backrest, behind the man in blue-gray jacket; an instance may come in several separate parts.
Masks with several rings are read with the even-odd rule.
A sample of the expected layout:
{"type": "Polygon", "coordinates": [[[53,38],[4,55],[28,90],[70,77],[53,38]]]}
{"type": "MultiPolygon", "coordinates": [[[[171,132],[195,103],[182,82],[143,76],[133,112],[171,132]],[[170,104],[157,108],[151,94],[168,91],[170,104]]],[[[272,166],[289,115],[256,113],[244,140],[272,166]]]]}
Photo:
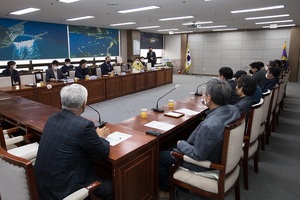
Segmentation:
{"type": "Polygon", "coordinates": [[[234,170],[239,164],[242,155],[244,131],[245,114],[225,127],[221,160],[221,165],[225,166],[225,174],[234,170]]]}

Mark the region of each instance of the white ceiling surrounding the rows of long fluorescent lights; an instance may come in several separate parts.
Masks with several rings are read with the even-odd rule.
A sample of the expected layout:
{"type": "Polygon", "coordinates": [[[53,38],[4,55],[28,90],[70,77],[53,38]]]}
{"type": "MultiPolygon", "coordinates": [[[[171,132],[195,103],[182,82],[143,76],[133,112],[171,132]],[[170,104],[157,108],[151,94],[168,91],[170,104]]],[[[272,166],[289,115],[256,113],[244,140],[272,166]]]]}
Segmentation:
{"type": "MultiPolygon", "coordinates": [[[[197,29],[182,25],[185,22],[213,21],[213,25],[227,25],[227,28],[238,28],[239,30],[261,29],[262,26],[255,22],[294,20],[292,23],[300,25],[300,1],[299,0],[81,0],[79,2],[65,4],[57,0],[2,0],[0,7],[0,18],[21,19],[29,21],[50,22],[69,25],[84,25],[92,27],[136,29],[144,26],[160,26],[155,29],[143,29],[144,32],[157,32],[159,29],[179,29],[178,31],[204,32],[211,29],[197,29]],[[117,5],[109,5],[117,4],[117,5]],[[159,6],[159,9],[120,14],[116,11],[138,8],[144,6],[159,6]],[[277,10],[231,14],[232,10],[251,9],[284,5],[277,10]],[[27,7],[40,8],[40,11],[15,16],[9,12],[27,7]],[[246,17],[257,17],[266,15],[290,14],[289,17],[245,20],[246,17]],[[68,22],[66,19],[86,15],[95,16],[94,19],[68,22]],[[178,17],[192,15],[194,19],[159,21],[160,18],[178,17]],[[110,27],[109,24],[136,22],[134,25],[110,27]]],[[[287,23],[282,23],[287,24],[287,23]]],[[[290,23],[289,23],[290,24],[290,23]]],[[[278,25],[281,25],[278,24],[278,25]]],[[[175,31],[176,32],[176,31],[175,31]]]]}

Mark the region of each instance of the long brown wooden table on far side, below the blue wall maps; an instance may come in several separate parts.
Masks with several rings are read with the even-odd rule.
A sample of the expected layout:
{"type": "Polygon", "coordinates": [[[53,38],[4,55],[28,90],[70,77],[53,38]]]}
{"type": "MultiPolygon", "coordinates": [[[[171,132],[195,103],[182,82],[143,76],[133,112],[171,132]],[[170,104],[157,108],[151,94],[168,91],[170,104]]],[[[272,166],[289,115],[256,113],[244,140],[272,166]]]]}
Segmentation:
{"type": "MultiPolygon", "coordinates": [[[[102,76],[94,80],[79,80],[88,90],[88,104],[97,103],[142,90],[158,87],[173,82],[172,68],[148,71],[136,74],[102,76]]],[[[44,82],[43,86],[30,87],[26,85],[0,87],[0,91],[21,96],[56,108],[61,107],[59,92],[66,84],[64,82],[44,82]],[[47,85],[52,86],[51,89],[47,85]]]]}

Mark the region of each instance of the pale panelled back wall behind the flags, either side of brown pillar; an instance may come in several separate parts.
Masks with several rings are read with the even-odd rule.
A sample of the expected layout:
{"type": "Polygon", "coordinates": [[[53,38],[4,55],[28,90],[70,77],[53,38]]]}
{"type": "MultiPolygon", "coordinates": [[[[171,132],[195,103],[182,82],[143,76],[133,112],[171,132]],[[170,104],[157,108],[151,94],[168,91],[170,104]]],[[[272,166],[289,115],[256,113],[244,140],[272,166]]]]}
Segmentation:
{"type": "MultiPolygon", "coordinates": [[[[188,43],[194,74],[217,75],[221,67],[233,71],[243,69],[251,62],[280,59],[282,45],[290,42],[290,29],[245,32],[189,34],[188,43]]],[[[180,35],[165,37],[165,57],[180,59],[180,35]]],[[[177,61],[178,67],[180,60],[177,61]]]]}

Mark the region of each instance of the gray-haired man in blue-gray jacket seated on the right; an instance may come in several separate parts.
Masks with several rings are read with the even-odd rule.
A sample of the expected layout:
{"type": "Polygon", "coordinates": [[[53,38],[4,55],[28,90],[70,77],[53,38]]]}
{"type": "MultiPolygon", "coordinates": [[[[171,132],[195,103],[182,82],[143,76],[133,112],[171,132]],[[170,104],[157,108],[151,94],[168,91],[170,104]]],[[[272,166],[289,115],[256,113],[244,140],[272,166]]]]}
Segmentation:
{"type": "MultiPolygon", "coordinates": [[[[209,160],[220,163],[225,125],[240,117],[239,110],[234,105],[228,105],[231,87],[227,81],[212,79],[207,82],[202,98],[209,111],[206,119],[191,133],[187,141],[180,140],[174,151],[183,153],[195,160],[209,160]]],[[[169,167],[176,160],[170,151],[162,151],[159,158],[159,198],[168,196],[169,167]]],[[[193,164],[183,163],[183,167],[192,171],[206,171],[193,164]]]]}

